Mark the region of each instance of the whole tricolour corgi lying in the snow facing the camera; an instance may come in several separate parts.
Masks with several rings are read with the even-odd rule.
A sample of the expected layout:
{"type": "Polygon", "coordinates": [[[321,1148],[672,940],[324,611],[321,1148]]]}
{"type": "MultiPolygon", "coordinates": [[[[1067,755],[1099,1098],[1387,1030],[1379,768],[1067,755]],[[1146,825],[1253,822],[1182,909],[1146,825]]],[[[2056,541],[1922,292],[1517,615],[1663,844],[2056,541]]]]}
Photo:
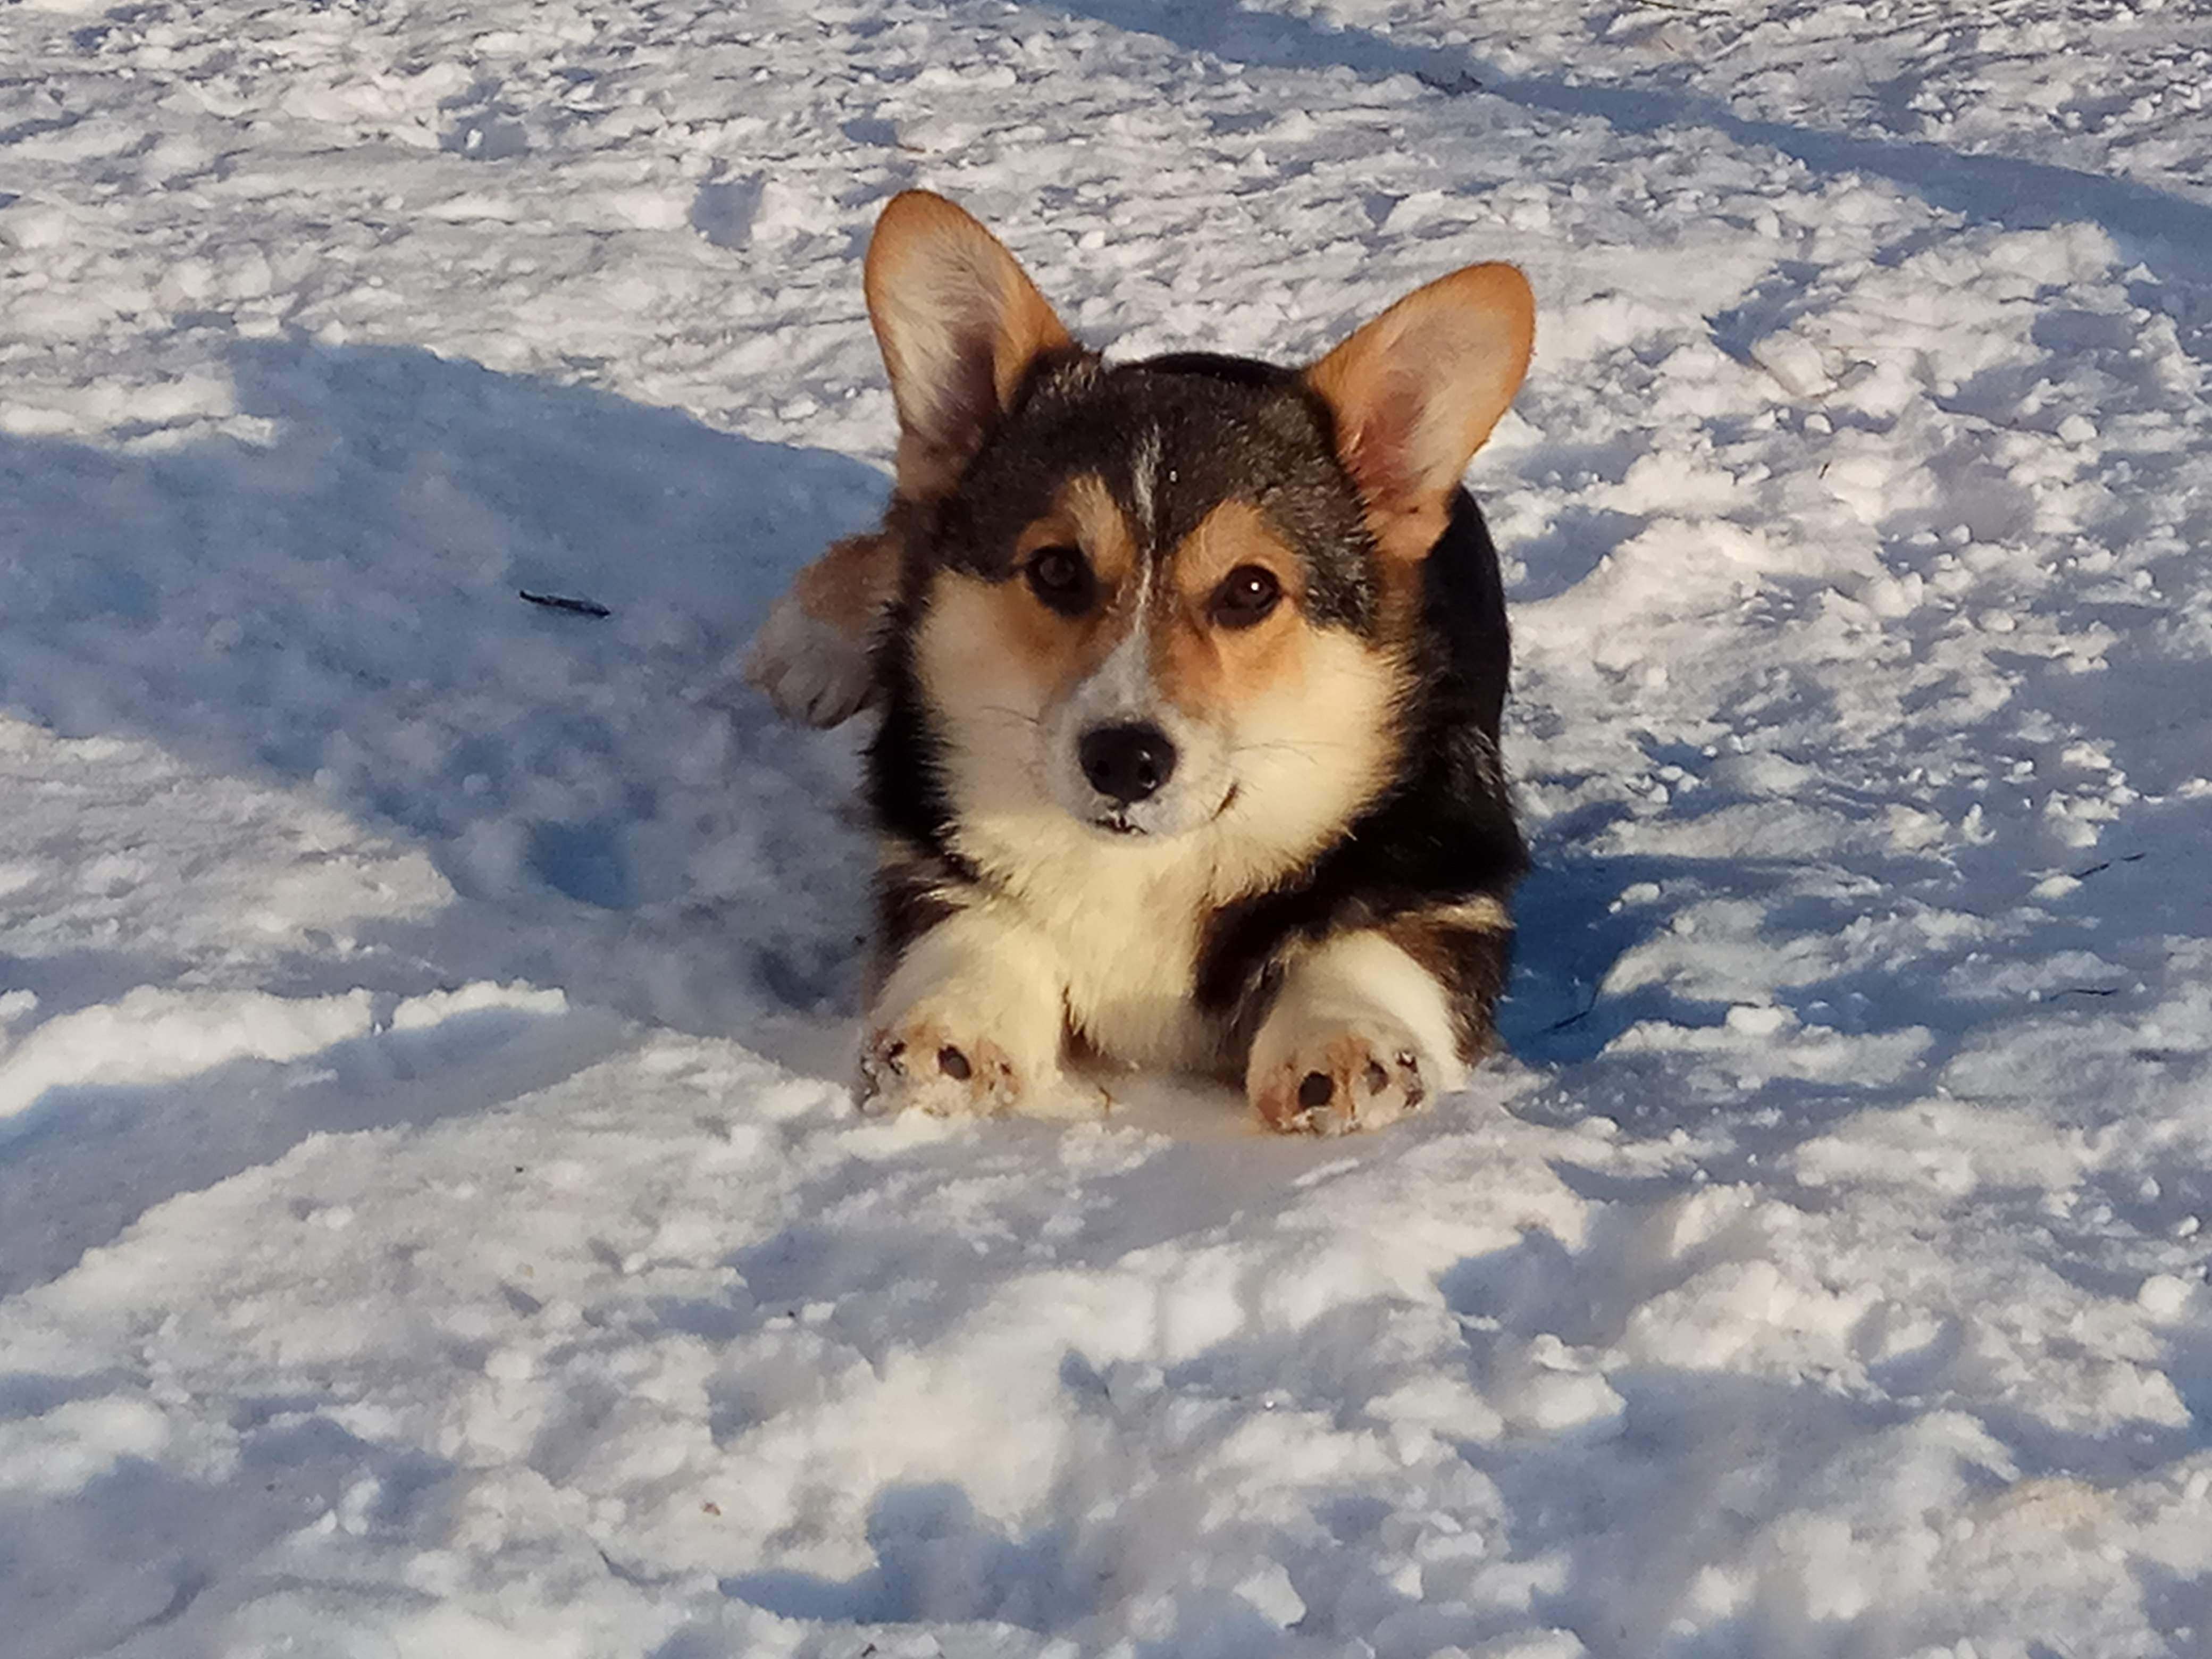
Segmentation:
{"type": "Polygon", "coordinates": [[[891,504],[748,666],[799,719],[880,706],[863,1104],[1000,1113],[1097,1060],[1327,1135],[1460,1086],[1526,863],[1460,476],[1528,367],[1526,279],[1458,270],[1301,369],[1110,363],[914,190],[865,290],[891,504]]]}

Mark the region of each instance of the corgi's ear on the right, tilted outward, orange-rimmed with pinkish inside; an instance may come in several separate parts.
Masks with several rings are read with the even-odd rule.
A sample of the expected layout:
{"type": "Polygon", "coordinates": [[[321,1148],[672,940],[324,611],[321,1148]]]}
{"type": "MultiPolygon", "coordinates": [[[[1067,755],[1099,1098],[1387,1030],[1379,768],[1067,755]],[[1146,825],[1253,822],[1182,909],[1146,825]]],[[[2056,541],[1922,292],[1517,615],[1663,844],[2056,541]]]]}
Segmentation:
{"type": "Polygon", "coordinates": [[[1513,403],[1535,345],[1535,296],[1513,265],[1420,288],[1305,372],[1336,414],[1336,453],[1387,553],[1444,533],[1467,462],[1513,403]]]}

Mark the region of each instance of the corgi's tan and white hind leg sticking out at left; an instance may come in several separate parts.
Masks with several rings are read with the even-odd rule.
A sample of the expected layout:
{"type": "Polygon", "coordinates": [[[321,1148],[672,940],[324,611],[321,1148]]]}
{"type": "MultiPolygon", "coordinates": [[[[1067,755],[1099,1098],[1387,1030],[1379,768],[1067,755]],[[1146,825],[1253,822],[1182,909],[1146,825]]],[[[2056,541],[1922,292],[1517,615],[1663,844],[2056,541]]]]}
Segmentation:
{"type": "Polygon", "coordinates": [[[874,644],[898,597],[891,529],[834,542],[776,599],[745,653],[745,679],[785,719],[838,726],[876,699],[874,644]]]}

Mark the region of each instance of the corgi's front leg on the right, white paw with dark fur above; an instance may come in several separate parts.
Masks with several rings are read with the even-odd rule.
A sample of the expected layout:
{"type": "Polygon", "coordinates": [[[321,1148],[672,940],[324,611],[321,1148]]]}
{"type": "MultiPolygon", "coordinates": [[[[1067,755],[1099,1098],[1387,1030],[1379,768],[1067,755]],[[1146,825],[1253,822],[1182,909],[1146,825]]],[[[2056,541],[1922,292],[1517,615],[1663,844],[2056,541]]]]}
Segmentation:
{"type": "Polygon", "coordinates": [[[1489,1046],[1509,947],[1504,905],[1475,898],[1292,956],[1245,1064],[1252,1108],[1274,1130],[1343,1135],[1458,1088],[1489,1046]]]}

